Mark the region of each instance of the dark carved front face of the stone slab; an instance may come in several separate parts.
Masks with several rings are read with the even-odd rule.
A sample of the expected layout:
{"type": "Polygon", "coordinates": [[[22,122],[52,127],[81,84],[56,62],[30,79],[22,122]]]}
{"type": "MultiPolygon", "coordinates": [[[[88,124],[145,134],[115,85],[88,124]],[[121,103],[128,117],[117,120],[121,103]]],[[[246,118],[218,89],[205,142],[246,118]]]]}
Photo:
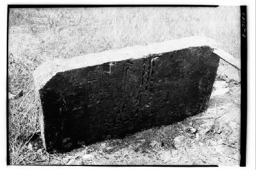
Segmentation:
{"type": "Polygon", "coordinates": [[[208,46],[58,72],[39,90],[47,151],[168,125],[205,110],[219,56],[208,46]]]}

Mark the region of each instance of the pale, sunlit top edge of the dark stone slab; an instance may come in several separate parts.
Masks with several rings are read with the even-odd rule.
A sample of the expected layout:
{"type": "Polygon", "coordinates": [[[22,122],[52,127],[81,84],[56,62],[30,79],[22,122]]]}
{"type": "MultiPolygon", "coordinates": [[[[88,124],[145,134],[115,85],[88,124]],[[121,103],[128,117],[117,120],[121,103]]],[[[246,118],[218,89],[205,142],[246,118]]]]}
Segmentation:
{"type": "Polygon", "coordinates": [[[35,88],[42,88],[57,72],[100,65],[107,62],[117,62],[127,59],[138,59],[150,54],[161,54],[181,50],[188,47],[209,46],[215,48],[217,43],[207,37],[193,36],[182,39],[152,43],[147,46],[135,45],[119,50],[109,50],[100,53],[87,54],[70,59],[47,61],[34,71],[35,88]]]}

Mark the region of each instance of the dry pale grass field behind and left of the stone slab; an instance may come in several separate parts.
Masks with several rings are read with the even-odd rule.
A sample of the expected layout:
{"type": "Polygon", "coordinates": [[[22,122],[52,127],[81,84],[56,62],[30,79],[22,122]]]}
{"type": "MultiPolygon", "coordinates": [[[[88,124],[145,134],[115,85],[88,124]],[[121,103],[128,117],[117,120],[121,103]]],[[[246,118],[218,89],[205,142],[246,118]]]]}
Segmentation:
{"type": "Polygon", "coordinates": [[[215,39],[240,58],[239,7],[10,9],[9,91],[24,90],[9,103],[10,163],[51,157],[28,149],[39,130],[33,70],[42,62],[194,35],[215,39]]]}

